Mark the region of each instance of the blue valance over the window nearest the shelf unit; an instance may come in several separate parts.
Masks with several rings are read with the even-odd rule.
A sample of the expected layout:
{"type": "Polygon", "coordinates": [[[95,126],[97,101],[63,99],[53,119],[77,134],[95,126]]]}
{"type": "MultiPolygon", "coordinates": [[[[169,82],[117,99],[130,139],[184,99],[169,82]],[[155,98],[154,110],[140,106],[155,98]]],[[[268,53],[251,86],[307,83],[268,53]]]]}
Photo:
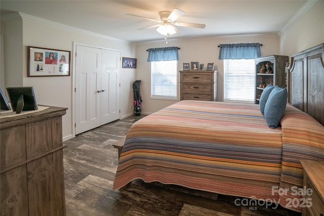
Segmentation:
{"type": "Polygon", "coordinates": [[[219,59],[256,59],[261,56],[260,44],[221,44],[219,59]]]}

